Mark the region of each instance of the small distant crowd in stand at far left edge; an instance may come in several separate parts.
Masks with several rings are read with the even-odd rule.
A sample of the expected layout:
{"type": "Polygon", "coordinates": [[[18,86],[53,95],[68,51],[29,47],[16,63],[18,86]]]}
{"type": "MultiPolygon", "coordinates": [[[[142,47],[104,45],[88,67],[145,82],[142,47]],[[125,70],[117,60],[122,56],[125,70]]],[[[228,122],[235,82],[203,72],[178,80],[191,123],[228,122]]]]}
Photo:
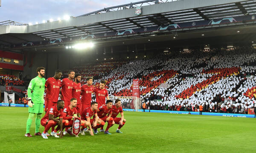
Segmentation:
{"type": "Polygon", "coordinates": [[[24,85],[23,80],[20,80],[16,76],[8,75],[8,74],[0,74],[0,85],[24,85]]]}

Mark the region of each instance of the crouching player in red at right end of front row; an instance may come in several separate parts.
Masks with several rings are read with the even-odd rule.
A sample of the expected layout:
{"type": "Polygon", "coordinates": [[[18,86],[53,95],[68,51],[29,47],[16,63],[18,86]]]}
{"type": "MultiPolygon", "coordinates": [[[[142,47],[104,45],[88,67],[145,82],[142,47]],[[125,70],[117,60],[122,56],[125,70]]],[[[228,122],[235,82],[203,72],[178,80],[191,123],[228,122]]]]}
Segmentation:
{"type": "Polygon", "coordinates": [[[115,124],[119,125],[119,127],[116,129],[116,132],[122,133],[120,131],[120,129],[122,128],[122,126],[125,125],[126,119],[124,119],[124,113],[122,111],[120,99],[116,99],[115,105],[112,106],[112,116],[111,117],[113,118],[115,124]],[[121,114],[121,117],[116,117],[119,113],[121,114]]]}

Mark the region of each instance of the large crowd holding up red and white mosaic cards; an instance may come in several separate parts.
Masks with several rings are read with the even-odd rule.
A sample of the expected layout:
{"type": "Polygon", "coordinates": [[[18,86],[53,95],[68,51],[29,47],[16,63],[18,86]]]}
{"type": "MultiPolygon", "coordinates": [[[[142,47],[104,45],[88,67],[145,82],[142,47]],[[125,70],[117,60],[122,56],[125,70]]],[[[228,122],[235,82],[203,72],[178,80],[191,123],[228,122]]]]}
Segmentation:
{"type": "MultiPolygon", "coordinates": [[[[140,99],[151,109],[198,111],[203,105],[208,112],[247,113],[256,99],[256,50],[250,46],[90,63],[74,70],[83,79],[93,76],[96,86],[106,80],[109,96],[131,96],[133,79],[140,79],[140,99]],[[161,83],[170,87],[157,88],[161,83]]],[[[125,107],[130,102],[122,99],[125,107]]]]}

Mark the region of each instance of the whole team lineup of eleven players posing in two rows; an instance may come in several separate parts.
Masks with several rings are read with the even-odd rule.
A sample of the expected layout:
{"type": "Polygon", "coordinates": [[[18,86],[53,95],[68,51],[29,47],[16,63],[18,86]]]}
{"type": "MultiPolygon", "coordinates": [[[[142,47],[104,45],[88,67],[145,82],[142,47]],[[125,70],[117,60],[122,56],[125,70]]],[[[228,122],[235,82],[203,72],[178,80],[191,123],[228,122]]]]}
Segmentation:
{"type": "Polygon", "coordinates": [[[38,76],[30,81],[27,90],[29,117],[26,122],[26,137],[32,137],[30,127],[34,116],[34,135],[42,136],[44,139],[48,139],[47,136],[62,138],[63,135],[73,135],[72,133],[76,136],[79,133],[85,135],[85,132],[91,136],[99,132],[111,135],[108,130],[114,124],[119,125],[116,133],[122,133],[120,129],[126,120],[121,100],[116,99],[113,102],[109,99],[104,80],[101,80],[99,87],[93,88],[92,77],[87,77],[87,83],[81,86],[81,75],[75,74],[73,70],[68,71],[68,77],[62,80],[60,70],[56,70],[55,75],[47,80],[44,78],[44,67],[38,67],[36,71],[38,76]],[[96,102],[92,102],[92,94],[96,95],[96,102]],[[42,116],[44,112],[45,115],[42,116]],[[121,117],[116,117],[119,113],[121,117]],[[105,123],[108,125],[104,130],[105,123]],[[44,126],[43,133],[39,131],[40,126],[44,126]]]}

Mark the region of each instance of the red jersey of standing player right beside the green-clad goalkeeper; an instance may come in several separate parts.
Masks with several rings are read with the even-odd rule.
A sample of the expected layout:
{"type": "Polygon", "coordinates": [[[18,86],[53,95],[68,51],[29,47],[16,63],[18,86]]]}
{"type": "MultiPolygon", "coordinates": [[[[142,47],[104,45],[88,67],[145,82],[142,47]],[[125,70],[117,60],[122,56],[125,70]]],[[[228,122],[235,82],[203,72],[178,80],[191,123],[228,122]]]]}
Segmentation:
{"type": "Polygon", "coordinates": [[[47,101],[57,102],[60,93],[61,81],[50,77],[46,80],[45,87],[47,88],[45,99],[47,101]]]}

